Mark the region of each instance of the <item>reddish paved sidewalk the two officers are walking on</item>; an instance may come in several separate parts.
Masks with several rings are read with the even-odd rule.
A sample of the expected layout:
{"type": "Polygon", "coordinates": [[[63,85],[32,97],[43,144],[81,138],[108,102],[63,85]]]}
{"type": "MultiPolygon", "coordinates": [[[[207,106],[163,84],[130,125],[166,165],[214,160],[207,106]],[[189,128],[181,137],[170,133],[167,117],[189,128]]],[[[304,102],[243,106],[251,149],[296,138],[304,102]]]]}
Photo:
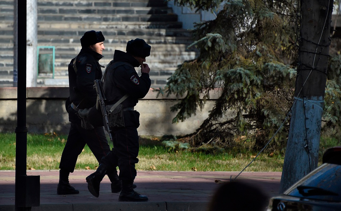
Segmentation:
{"type": "MultiPolygon", "coordinates": [[[[75,195],[57,195],[58,170],[28,170],[40,175],[40,207],[32,211],[205,211],[207,202],[221,182],[229,182],[239,172],[137,171],[136,192],[147,195],[148,202],[119,202],[119,193],[111,193],[110,181],[103,179],[100,196],[92,196],[85,178],[93,170],[76,170],[70,184],[80,191],[75,195]]],[[[268,196],[277,195],[281,172],[243,172],[237,180],[258,186],[268,196]]],[[[0,211],[14,211],[15,171],[0,171],[0,211]]]]}

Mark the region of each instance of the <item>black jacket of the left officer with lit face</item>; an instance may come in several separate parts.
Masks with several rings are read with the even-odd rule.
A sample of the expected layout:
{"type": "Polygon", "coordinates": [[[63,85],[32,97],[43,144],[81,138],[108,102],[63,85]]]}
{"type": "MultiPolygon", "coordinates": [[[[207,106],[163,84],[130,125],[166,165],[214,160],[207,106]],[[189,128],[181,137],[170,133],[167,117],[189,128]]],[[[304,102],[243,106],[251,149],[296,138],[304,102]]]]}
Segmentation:
{"type": "MultiPolygon", "coordinates": [[[[69,72],[69,91],[70,102],[74,103],[78,108],[91,108],[95,105],[97,99],[96,90],[93,89],[94,80],[102,78],[102,69],[99,60],[103,58],[101,54],[89,49],[82,48],[77,55],[76,67],[77,73],[73,68],[73,61],[71,60],[69,72]]],[[[68,109],[69,120],[79,120],[74,115],[72,108],[68,109]],[[70,110],[72,112],[70,112],[70,110]],[[74,118],[76,117],[76,119],[74,118]]]]}

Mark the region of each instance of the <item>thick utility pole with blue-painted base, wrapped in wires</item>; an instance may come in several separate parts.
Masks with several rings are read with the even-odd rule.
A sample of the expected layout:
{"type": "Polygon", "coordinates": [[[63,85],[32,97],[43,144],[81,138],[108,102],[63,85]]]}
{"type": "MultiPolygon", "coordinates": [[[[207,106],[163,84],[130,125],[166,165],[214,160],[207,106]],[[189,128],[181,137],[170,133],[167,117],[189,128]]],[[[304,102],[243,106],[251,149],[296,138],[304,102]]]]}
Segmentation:
{"type": "Polygon", "coordinates": [[[294,104],[280,193],[317,167],[333,0],[300,0],[294,104]]]}

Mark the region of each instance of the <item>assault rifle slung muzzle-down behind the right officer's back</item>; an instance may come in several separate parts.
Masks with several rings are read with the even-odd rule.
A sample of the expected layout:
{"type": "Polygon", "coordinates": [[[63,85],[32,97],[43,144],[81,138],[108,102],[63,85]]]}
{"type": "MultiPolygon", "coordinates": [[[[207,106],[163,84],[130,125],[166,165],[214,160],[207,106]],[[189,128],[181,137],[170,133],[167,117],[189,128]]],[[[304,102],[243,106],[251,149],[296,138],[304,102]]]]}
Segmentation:
{"type": "Polygon", "coordinates": [[[111,130],[109,127],[109,118],[108,118],[108,112],[105,108],[105,103],[104,100],[106,100],[105,96],[104,96],[104,91],[102,88],[102,82],[99,79],[96,79],[94,81],[94,89],[96,89],[97,92],[97,103],[96,103],[96,108],[99,109],[98,107],[100,106],[101,111],[102,111],[102,117],[103,117],[103,125],[106,126],[106,130],[109,133],[109,138],[110,141],[113,141],[113,136],[111,135],[111,130]]]}

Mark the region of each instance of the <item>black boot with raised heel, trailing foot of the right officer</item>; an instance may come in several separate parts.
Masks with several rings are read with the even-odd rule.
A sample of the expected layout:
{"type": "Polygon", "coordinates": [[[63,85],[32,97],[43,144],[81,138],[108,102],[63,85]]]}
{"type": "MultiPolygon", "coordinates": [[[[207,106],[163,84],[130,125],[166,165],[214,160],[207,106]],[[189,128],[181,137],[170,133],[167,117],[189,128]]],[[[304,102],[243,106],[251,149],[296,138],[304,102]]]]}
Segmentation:
{"type": "Polygon", "coordinates": [[[98,197],[100,195],[100,183],[105,176],[106,168],[106,165],[100,164],[97,170],[86,178],[88,190],[94,197],[98,197]]]}

